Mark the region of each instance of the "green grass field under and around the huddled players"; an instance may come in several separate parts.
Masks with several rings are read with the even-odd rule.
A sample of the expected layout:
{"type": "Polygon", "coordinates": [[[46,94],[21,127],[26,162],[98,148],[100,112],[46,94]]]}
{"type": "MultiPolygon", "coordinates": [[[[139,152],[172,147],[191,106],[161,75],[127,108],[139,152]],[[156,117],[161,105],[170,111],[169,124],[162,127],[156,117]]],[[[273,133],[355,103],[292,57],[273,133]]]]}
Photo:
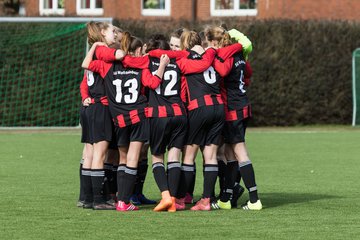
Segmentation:
{"type": "Polygon", "coordinates": [[[262,211],[120,213],[75,205],[79,130],[1,131],[0,239],[359,239],[359,128],[250,128],[247,146],[262,211]]]}

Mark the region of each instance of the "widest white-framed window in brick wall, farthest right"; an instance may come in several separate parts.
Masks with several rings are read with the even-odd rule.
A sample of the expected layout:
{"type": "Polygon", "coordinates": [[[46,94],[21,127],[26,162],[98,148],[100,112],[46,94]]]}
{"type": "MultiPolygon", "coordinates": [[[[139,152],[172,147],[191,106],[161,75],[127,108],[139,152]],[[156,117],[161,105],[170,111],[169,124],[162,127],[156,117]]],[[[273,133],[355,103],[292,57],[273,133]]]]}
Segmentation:
{"type": "Polygon", "coordinates": [[[257,0],[211,0],[211,16],[255,16],[257,0]]]}

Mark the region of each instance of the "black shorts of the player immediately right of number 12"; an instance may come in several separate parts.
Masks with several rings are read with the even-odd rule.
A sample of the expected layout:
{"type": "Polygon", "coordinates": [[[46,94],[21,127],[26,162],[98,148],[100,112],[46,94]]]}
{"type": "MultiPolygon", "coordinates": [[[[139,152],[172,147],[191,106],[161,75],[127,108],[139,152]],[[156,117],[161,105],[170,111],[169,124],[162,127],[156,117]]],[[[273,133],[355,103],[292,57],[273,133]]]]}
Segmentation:
{"type": "Polygon", "coordinates": [[[224,121],[224,105],[203,106],[190,111],[186,144],[219,145],[224,121]]]}

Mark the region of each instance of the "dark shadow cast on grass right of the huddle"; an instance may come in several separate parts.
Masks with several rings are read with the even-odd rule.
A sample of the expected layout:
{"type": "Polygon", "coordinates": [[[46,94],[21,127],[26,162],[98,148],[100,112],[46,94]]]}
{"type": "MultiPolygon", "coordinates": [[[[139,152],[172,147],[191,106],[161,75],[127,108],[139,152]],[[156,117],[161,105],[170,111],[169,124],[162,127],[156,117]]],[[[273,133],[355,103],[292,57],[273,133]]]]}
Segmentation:
{"type": "Polygon", "coordinates": [[[315,194],[315,193],[260,193],[261,202],[266,208],[275,208],[288,204],[313,202],[323,199],[341,198],[335,195],[315,194]]]}

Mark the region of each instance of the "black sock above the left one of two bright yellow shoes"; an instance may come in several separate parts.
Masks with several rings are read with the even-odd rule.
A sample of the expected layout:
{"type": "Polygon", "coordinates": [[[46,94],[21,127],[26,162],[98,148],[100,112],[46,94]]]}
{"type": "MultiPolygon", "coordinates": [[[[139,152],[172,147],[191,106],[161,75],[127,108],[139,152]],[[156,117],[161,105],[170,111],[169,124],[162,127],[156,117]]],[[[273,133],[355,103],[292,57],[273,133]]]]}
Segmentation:
{"type": "Polygon", "coordinates": [[[235,160],[228,160],[225,168],[225,186],[220,200],[227,202],[233,194],[233,187],[238,172],[238,162],[235,160]]]}

